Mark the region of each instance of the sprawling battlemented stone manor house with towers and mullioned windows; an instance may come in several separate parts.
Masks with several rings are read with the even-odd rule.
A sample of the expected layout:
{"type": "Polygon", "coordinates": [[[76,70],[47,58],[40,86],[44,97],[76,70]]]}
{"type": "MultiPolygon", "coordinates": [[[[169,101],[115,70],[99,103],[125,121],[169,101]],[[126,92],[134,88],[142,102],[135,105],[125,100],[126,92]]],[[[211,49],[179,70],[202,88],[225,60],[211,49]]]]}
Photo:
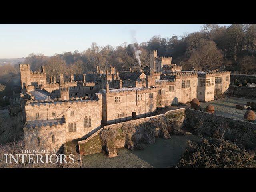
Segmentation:
{"type": "Polygon", "coordinates": [[[137,72],[114,67],[93,74],[74,75],[64,81],[50,76],[44,66],[32,72],[20,64],[20,102],[26,148],[58,149],[72,140],[84,140],[112,124],[139,118],[193,98],[214,100],[230,84],[230,71],[182,71],[172,58],[150,52],[150,66],[137,72]]]}

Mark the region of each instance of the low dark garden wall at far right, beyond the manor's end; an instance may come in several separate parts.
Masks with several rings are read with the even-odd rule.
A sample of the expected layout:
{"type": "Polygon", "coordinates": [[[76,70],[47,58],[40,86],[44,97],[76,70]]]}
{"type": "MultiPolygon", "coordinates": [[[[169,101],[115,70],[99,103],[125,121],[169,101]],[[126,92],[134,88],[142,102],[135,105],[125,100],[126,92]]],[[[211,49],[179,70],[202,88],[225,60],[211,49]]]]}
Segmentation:
{"type": "Polygon", "coordinates": [[[256,98],[256,87],[230,85],[228,95],[256,98]]]}

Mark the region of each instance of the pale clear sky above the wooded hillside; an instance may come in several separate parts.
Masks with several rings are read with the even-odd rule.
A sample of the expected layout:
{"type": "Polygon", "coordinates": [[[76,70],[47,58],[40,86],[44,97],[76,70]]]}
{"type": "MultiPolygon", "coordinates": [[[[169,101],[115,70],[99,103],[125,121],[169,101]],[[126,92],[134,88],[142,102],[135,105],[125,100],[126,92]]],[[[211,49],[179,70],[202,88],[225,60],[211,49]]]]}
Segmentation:
{"type": "MultiPolygon", "coordinates": [[[[229,25],[229,24],[220,24],[229,25]]],[[[154,35],[172,37],[200,30],[202,24],[0,24],[0,58],[21,58],[30,53],[82,52],[98,46],[148,41],[154,35]]]]}

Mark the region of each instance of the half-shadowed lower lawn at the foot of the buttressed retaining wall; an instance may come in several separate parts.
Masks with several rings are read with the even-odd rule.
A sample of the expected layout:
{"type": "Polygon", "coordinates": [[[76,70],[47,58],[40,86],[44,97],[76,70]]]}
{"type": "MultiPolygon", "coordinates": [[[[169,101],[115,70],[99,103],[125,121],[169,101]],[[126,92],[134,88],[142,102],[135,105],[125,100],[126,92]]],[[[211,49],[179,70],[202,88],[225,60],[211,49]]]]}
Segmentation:
{"type": "Polygon", "coordinates": [[[156,138],[153,144],[144,144],[144,150],[118,149],[118,156],[108,158],[102,153],[82,158],[83,168],[171,168],[186,148],[187,140],[198,140],[198,136],[172,135],[170,139],[156,138]]]}

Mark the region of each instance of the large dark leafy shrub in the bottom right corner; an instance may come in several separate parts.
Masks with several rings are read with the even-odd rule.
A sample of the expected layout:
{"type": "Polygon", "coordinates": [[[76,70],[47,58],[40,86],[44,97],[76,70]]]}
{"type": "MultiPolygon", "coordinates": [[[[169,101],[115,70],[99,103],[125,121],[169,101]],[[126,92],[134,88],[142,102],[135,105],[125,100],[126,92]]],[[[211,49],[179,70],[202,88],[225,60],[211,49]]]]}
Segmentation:
{"type": "Polygon", "coordinates": [[[180,156],[179,168],[256,168],[255,154],[241,150],[234,143],[220,139],[188,140],[180,156]]]}

